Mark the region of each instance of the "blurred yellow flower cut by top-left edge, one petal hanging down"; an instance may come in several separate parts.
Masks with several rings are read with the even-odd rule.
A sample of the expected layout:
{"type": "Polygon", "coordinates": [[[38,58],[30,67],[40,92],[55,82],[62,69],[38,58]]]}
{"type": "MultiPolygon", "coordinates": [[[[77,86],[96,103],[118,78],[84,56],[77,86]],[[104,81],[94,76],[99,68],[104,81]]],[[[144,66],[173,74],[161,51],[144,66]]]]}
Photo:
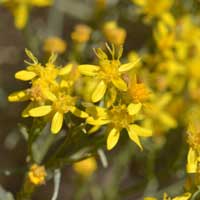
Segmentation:
{"type": "Polygon", "coordinates": [[[52,4],[53,0],[5,0],[3,3],[7,6],[13,16],[15,26],[18,29],[23,29],[29,18],[29,10],[32,7],[46,7],[52,4]]]}

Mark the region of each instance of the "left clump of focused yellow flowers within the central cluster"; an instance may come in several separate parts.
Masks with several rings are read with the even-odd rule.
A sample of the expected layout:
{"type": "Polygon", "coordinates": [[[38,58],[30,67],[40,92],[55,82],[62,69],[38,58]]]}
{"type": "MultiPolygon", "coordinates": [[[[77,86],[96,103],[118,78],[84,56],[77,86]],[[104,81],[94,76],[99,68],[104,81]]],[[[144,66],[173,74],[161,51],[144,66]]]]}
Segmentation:
{"type": "Polygon", "coordinates": [[[30,101],[22,116],[48,115],[52,119],[51,131],[55,134],[62,128],[65,113],[71,112],[75,116],[86,118],[87,114],[76,107],[77,98],[70,94],[71,82],[61,79],[69,75],[73,65],[57,67],[54,64],[56,56],[52,54],[45,66],[42,66],[30,51],[26,50],[26,53],[32,63],[26,62],[28,64],[26,70],[17,72],[15,77],[19,80],[31,81],[32,86],[26,90],[14,92],[8,97],[11,102],[30,101]]]}

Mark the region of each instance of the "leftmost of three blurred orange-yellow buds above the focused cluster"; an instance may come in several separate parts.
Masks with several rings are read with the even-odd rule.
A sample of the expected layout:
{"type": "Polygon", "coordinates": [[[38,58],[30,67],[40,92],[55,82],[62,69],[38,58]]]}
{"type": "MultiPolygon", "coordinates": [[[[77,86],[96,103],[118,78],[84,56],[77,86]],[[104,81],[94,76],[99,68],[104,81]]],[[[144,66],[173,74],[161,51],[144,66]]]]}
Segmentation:
{"type": "Polygon", "coordinates": [[[47,53],[62,54],[66,51],[67,43],[59,37],[49,37],[44,41],[43,50],[47,53]]]}

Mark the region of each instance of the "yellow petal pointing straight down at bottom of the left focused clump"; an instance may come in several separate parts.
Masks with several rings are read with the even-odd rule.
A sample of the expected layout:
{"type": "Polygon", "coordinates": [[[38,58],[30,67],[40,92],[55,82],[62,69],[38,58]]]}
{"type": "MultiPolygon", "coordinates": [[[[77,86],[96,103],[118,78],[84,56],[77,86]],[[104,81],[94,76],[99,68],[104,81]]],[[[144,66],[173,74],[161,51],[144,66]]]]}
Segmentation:
{"type": "Polygon", "coordinates": [[[57,134],[62,128],[62,124],[63,124],[63,114],[60,112],[56,112],[51,122],[51,132],[53,134],[57,134]]]}

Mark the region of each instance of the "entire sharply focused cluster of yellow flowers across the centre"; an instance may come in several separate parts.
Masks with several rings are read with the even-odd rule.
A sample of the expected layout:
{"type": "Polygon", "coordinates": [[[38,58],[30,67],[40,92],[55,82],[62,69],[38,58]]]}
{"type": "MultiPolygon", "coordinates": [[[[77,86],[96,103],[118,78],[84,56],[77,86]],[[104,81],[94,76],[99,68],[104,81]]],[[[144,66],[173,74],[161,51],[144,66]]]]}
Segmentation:
{"type": "Polygon", "coordinates": [[[115,49],[114,45],[112,47],[106,45],[106,47],[111,58],[98,48],[95,53],[99,58],[99,65],[78,66],[81,74],[97,80],[91,95],[91,102],[83,103],[86,111],[77,107],[81,96],[73,95],[76,81],[73,82],[69,78],[72,70],[76,70],[73,69],[73,65],[56,66],[56,56],[52,54],[43,66],[28,50],[26,54],[32,62],[26,62],[27,68],[17,72],[15,78],[29,81],[31,87],[12,93],[8,97],[9,101],[29,101],[22,116],[46,117],[47,120],[51,120],[51,132],[54,134],[61,130],[64,116],[70,112],[77,117],[86,118],[86,123],[94,126],[89,132],[99,130],[101,126],[106,125],[107,149],[110,150],[117,144],[123,129],[128,132],[130,139],[142,149],[138,136],[152,135],[151,130],[138,124],[141,121],[140,115],[143,115],[143,118],[145,116],[142,107],[149,93],[143,83],[132,81],[132,84],[128,85],[124,78],[127,72],[137,66],[139,59],[122,64],[120,58],[123,48],[115,49]],[[99,105],[93,104],[97,102],[100,102],[99,105]]]}

